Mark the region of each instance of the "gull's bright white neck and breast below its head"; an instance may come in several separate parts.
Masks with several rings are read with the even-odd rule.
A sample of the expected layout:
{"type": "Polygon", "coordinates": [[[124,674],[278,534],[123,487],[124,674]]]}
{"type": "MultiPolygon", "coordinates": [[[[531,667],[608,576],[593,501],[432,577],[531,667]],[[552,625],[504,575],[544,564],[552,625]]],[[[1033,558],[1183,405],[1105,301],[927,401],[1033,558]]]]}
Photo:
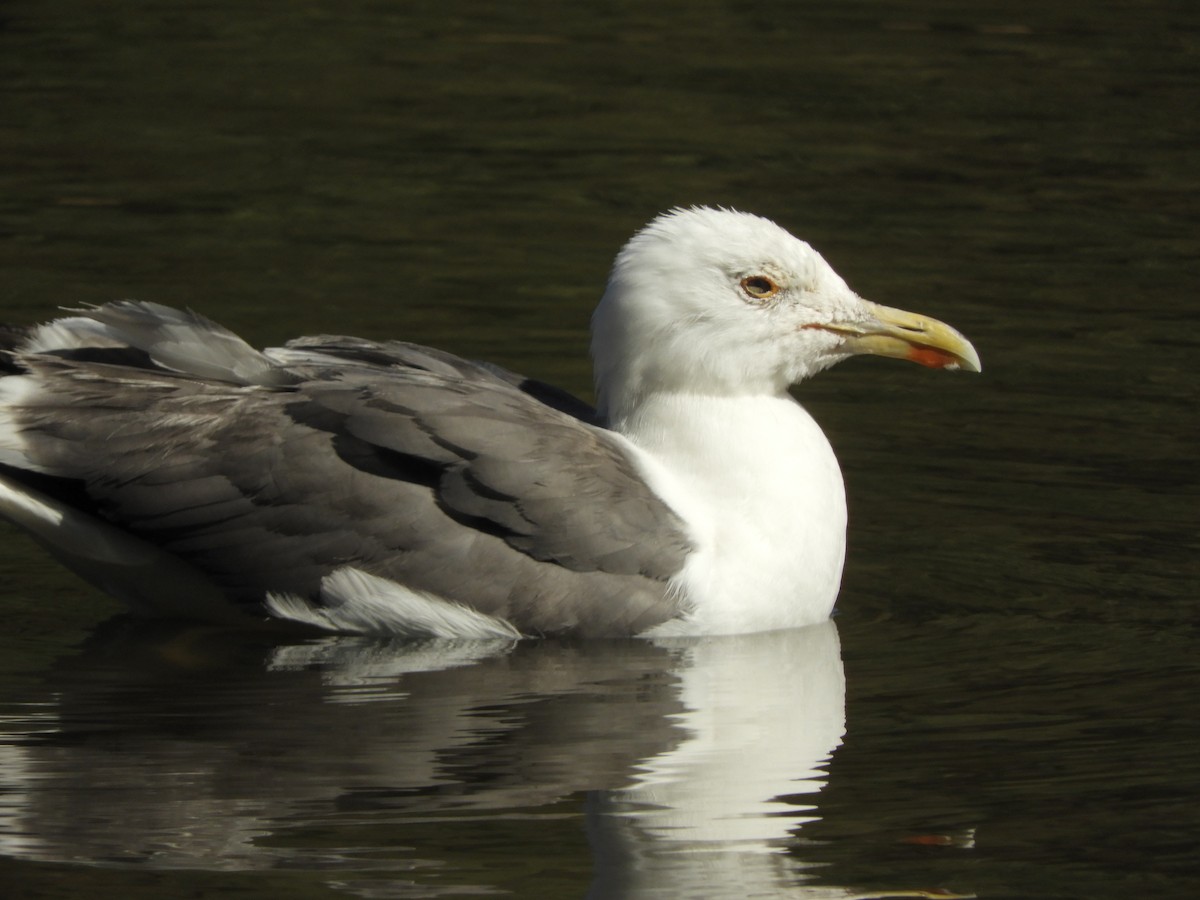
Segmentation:
{"type": "Polygon", "coordinates": [[[653,634],[828,618],[845,558],[845,488],[829,442],[796,401],[661,392],[617,430],[697,546],[674,580],[689,616],[653,634]]]}

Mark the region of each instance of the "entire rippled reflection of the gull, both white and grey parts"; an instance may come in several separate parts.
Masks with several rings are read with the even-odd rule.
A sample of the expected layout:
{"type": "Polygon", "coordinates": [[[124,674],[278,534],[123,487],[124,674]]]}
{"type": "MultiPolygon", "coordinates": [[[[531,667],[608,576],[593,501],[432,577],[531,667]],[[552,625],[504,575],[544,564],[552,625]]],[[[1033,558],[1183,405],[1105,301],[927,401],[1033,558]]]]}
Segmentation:
{"type": "Polygon", "coordinates": [[[554,833],[587,793],[596,898],[848,896],[805,880],[794,839],[842,734],[832,623],[656,643],[242,640],[109,641],[48,673],[46,712],[17,707],[0,742],[0,852],[479,893],[497,872],[460,872],[470,847],[455,857],[448,829],[554,833]],[[193,666],[227,655],[164,670],[163,646],[193,666]]]}

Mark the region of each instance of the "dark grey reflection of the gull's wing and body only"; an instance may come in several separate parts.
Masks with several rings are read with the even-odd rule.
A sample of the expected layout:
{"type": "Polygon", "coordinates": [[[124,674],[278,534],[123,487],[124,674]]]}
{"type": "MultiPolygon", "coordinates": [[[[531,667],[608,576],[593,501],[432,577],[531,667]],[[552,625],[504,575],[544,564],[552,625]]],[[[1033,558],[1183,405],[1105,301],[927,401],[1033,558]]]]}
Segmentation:
{"type": "Polygon", "coordinates": [[[676,739],[673,660],[646,642],[258,640],[98,640],[47,674],[36,715],[29,700],[0,708],[0,853],[233,871],[434,866],[438,847],[422,859],[388,830],[362,845],[360,827],[538,809],[614,786],[676,739]],[[612,728],[618,708],[628,731],[612,728]],[[313,820],[332,846],[296,836],[313,820]]]}

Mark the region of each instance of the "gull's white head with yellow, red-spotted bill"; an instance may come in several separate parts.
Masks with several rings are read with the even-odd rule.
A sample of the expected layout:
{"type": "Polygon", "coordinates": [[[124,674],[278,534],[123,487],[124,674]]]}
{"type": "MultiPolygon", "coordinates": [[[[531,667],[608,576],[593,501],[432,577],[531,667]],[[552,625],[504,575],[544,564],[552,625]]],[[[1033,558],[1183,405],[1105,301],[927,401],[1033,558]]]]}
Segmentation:
{"type": "Polygon", "coordinates": [[[592,319],[611,424],[656,392],[782,395],[859,353],[979,371],[949,325],[863,300],[808,244],[734,210],[674,210],[646,226],[592,319]]]}

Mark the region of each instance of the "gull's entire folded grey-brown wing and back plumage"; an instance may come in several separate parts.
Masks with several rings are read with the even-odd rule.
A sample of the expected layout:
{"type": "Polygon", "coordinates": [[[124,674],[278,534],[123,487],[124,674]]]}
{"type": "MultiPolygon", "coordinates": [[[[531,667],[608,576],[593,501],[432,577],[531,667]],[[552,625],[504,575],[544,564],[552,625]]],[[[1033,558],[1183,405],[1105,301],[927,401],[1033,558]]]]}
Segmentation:
{"type": "MultiPolygon", "coordinates": [[[[172,325],[173,347],[204,344],[172,325]]],[[[353,566],[527,634],[630,634],[678,613],[684,526],[619,439],[563,412],[589,409],[569,395],[544,402],[414,344],[312,338],[242,359],[223,343],[220,371],[194,373],[186,352],[140,349],[142,366],[108,349],[18,355],[38,385],[13,410],[43,473],[28,478],[238,602],[322,602],[322,580],[353,566]]]]}

